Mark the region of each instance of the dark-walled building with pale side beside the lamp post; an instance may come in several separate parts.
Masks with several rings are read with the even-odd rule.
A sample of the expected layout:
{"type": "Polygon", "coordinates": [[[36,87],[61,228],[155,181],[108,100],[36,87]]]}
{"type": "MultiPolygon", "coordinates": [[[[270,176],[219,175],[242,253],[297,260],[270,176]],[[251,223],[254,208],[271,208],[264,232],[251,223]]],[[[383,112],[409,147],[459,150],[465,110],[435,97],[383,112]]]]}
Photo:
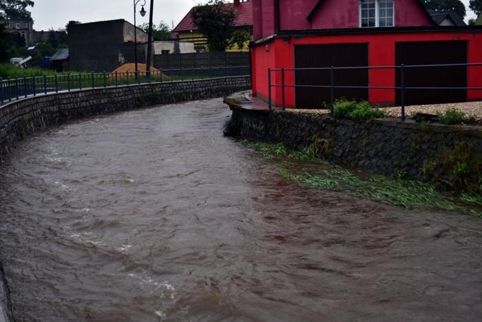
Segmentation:
{"type": "Polygon", "coordinates": [[[70,69],[111,72],[125,63],[134,63],[134,46],[138,63],[145,63],[148,36],[137,28],[134,44],[134,30],[134,25],[123,19],[70,25],[67,37],[70,69]]]}

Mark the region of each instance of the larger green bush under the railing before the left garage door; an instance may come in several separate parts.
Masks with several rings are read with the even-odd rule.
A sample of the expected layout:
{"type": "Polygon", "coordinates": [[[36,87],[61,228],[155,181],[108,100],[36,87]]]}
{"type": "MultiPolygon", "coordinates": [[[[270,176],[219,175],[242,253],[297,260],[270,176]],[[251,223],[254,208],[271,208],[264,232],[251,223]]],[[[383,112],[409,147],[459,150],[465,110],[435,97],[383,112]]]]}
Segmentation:
{"type": "Polygon", "coordinates": [[[383,110],[373,108],[367,101],[337,100],[333,105],[333,116],[338,119],[353,119],[353,121],[368,121],[385,116],[383,110]]]}

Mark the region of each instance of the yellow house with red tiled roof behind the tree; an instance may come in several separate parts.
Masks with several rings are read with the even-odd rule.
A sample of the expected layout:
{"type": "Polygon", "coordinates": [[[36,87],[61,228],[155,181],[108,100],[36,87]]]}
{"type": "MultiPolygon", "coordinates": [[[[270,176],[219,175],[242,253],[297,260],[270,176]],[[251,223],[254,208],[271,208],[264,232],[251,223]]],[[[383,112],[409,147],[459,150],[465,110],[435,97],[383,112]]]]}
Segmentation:
{"type": "MultiPolygon", "coordinates": [[[[249,28],[250,34],[253,33],[253,1],[240,1],[234,0],[233,3],[226,3],[226,6],[234,6],[236,19],[234,25],[239,28],[249,28]]],[[[198,28],[193,24],[191,17],[192,9],[186,14],[186,16],[178,23],[178,26],[174,28],[171,35],[174,39],[180,39],[181,41],[189,41],[194,43],[194,47],[198,52],[207,52],[206,37],[198,32],[198,28]]],[[[248,43],[244,48],[227,49],[227,52],[247,52],[249,50],[248,43]]]]}

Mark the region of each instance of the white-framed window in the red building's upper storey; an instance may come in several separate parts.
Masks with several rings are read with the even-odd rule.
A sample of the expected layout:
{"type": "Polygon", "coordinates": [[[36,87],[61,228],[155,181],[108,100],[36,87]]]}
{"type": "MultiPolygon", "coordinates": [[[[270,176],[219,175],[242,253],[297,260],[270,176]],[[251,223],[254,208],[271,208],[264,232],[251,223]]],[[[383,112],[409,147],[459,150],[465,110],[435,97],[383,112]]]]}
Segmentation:
{"type": "Polygon", "coordinates": [[[393,27],[393,0],[361,0],[360,27],[393,27]]]}

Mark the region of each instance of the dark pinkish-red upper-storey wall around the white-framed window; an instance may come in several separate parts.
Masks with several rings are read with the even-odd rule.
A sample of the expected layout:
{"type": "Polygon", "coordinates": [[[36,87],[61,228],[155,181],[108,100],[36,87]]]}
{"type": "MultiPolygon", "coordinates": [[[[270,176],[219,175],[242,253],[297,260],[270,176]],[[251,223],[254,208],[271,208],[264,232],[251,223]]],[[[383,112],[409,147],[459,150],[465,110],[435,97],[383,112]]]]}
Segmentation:
{"type": "MultiPolygon", "coordinates": [[[[395,0],[395,27],[433,26],[419,0],[395,0]]],[[[335,29],[359,27],[359,0],[324,0],[311,21],[308,14],[318,0],[253,0],[254,39],[276,34],[279,3],[281,30],[335,29]]]]}

